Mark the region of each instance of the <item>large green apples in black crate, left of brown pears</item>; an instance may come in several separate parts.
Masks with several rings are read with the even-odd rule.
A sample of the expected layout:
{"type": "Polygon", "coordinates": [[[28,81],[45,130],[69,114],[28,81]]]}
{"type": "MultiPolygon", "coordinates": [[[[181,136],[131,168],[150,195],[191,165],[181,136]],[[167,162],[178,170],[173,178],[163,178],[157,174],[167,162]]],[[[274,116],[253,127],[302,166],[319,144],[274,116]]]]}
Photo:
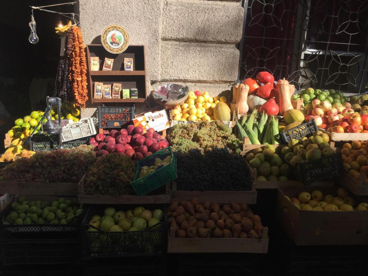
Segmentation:
{"type": "Polygon", "coordinates": [[[146,210],[142,206],[133,210],[116,211],[113,207],[104,210],[104,216],[93,215],[90,218],[87,231],[123,232],[123,231],[144,231],[147,228],[160,229],[160,222],[163,221],[164,213],[160,209],[154,211],[146,210]],[[152,228],[151,228],[152,227],[152,228]]]}

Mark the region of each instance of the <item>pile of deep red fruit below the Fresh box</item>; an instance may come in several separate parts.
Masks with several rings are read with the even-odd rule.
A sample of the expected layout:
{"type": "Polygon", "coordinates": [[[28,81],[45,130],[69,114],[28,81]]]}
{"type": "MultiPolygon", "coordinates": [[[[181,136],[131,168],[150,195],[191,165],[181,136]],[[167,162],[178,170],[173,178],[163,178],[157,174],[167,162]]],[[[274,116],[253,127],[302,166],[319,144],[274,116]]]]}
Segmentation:
{"type": "Polygon", "coordinates": [[[103,134],[89,139],[89,145],[94,146],[97,156],[106,155],[112,152],[129,156],[132,160],[141,160],[163,148],[169,146],[166,139],[156,133],[153,128],[148,128],[146,132],[142,127],[128,125],[127,128],[117,130],[104,130],[103,134]]]}

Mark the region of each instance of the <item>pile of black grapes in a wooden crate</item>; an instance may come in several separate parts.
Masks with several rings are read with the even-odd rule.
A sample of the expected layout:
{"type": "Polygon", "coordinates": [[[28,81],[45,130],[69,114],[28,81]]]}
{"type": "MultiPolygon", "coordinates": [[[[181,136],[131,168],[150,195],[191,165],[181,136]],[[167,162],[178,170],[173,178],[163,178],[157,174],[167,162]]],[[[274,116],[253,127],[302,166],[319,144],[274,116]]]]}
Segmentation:
{"type": "Polygon", "coordinates": [[[188,154],[174,152],[177,157],[178,190],[250,191],[252,180],[244,158],[228,148],[215,148],[202,155],[199,149],[188,154]]]}

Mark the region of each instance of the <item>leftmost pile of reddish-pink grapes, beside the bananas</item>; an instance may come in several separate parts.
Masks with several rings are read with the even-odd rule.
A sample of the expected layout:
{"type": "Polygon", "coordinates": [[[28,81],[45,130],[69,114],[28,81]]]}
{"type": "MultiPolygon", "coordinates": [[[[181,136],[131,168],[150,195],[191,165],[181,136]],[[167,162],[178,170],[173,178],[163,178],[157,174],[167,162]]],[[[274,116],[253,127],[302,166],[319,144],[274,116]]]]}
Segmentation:
{"type": "Polygon", "coordinates": [[[0,181],[78,183],[95,160],[95,153],[87,145],[39,151],[31,158],[17,159],[5,167],[1,171],[0,181]]]}

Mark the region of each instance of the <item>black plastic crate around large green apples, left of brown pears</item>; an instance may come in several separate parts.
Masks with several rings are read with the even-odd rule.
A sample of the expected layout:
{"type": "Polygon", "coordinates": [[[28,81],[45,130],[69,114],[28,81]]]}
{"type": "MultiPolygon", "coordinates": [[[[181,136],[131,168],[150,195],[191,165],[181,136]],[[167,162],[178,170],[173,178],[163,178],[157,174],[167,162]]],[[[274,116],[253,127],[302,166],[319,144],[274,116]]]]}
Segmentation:
{"type": "MultiPolygon", "coordinates": [[[[113,206],[118,210],[133,210],[134,205],[91,205],[82,222],[82,259],[121,257],[121,256],[153,256],[166,252],[167,217],[163,205],[144,205],[145,209],[161,209],[164,212],[164,221],[160,222],[159,229],[143,231],[103,232],[88,231],[90,218],[93,215],[103,215],[106,207],[113,206]]],[[[151,227],[152,228],[152,227],[151,227]]]]}

